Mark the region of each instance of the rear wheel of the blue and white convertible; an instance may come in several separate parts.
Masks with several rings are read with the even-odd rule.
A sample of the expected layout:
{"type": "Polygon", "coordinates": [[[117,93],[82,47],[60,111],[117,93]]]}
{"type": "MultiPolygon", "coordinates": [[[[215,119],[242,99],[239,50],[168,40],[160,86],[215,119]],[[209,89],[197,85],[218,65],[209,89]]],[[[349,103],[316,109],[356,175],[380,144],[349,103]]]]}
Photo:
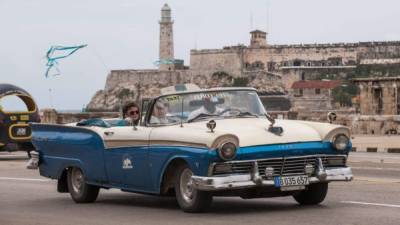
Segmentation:
{"type": "Polygon", "coordinates": [[[76,167],[69,169],[67,180],[69,193],[76,203],[96,201],[100,188],[87,184],[81,169],[76,167]]]}

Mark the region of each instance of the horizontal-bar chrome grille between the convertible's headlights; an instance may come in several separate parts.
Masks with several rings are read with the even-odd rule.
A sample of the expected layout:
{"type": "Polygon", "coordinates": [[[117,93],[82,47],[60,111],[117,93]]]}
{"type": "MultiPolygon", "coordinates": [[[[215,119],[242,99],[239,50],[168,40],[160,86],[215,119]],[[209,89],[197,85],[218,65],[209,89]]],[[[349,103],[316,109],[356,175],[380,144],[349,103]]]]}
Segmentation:
{"type": "Polygon", "coordinates": [[[265,168],[267,167],[274,168],[273,176],[300,175],[305,174],[304,167],[307,164],[311,164],[316,169],[318,158],[321,158],[325,168],[346,166],[347,156],[345,155],[282,157],[215,163],[212,168],[212,175],[248,174],[251,172],[254,162],[257,162],[258,172],[262,177],[265,177],[265,168]]]}

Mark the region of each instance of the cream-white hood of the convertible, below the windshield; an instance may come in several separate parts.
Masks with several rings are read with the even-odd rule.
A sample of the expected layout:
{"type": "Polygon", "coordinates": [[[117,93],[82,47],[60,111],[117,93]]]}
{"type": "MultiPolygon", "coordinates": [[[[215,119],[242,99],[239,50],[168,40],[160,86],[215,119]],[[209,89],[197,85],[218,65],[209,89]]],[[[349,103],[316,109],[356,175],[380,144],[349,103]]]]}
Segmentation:
{"type": "Polygon", "coordinates": [[[266,118],[217,119],[216,128],[211,132],[206,121],[154,128],[150,142],[155,140],[174,140],[183,143],[204,144],[213,147],[216,139],[231,135],[238,139],[241,147],[279,143],[312,142],[329,140],[335,133],[350,135],[346,127],[327,123],[297,120],[276,120],[274,126],[283,128],[281,135],[268,131],[270,122],[266,118]]]}

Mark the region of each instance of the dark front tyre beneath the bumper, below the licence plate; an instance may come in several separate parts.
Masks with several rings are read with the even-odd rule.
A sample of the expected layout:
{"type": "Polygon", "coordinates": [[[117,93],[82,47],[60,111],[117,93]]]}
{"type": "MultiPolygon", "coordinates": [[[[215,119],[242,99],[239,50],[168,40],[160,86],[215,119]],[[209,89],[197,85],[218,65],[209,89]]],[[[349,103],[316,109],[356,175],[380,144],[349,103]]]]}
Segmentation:
{"type": "Polygon", "coordinates": [[[307,190],[293,195],[300,205],[317,205],[324,201],[328,193],[328,183],[310,184],[307,190]]]}

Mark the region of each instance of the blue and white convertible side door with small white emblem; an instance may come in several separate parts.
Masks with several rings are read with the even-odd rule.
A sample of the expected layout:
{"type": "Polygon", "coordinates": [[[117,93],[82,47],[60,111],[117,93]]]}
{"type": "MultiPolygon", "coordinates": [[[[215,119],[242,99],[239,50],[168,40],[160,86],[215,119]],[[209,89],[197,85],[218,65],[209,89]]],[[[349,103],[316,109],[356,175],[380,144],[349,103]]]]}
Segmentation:
{"type": "Polygon", "coordinates": [[[151,128],[141,126],[104,129],[104,158],[110,184],[146,191],[150,131],[151,128]]]}

